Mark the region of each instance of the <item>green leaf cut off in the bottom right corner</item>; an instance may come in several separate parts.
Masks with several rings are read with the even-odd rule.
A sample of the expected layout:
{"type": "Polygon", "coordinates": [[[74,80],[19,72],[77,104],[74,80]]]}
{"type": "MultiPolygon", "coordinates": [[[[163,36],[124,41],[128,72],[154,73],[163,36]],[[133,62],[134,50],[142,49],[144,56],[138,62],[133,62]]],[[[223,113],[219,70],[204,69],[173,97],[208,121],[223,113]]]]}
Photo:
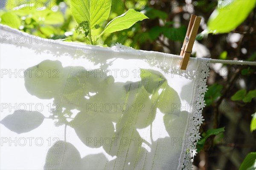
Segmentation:
{"type": "Polygon", "coordinates": [[[256,169],[256,152],[248,153],[244,158],[239,170],[255,170],[256,169]]]}

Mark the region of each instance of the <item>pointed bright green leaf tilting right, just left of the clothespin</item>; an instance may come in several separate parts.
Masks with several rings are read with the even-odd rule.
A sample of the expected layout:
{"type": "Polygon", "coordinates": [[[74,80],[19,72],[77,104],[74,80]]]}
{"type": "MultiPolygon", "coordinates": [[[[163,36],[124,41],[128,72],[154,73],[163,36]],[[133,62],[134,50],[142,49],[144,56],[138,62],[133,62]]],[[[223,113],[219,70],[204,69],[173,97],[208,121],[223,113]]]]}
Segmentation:
{"type": "Polygon", "coordinates": [[[134,9],[129,9],[124,14],[111,20],[105,27],[103,32],[112,33],[116,31],[121,31],[123,29],[128,29],[134,25],[137,21],[147,19],[144,14],[135,11],[134,9]]]}

